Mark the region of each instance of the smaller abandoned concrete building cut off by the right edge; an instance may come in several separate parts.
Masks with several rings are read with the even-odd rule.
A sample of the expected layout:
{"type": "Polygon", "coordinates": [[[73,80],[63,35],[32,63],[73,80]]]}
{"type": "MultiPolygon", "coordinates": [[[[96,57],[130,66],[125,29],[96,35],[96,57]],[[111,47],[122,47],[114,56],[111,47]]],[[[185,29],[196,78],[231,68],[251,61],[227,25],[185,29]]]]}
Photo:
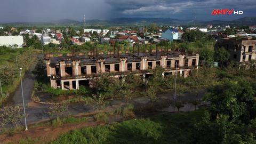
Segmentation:
{"type": "Polygon", "coordinates": [[[225,47],[233,61],[246,63],[256,59],[256,38],[222,38],[218,39],[214,51],[219,47],[225,47]]]}

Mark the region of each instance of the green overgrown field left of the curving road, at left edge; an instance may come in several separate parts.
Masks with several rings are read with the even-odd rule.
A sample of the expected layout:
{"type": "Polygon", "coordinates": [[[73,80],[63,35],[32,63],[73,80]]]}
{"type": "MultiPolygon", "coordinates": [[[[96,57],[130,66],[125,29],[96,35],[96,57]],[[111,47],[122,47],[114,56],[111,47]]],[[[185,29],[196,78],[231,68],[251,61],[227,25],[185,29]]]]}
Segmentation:
{"type": "Polygon", "coordinates": [[[12,49],[0,46],[0,79],[3,95],[0,97],[0,105],[9,97],[20,83],[19,68],[23,68],[22,76],[36,62],[36,51],[29,48],[12,49]]]}

